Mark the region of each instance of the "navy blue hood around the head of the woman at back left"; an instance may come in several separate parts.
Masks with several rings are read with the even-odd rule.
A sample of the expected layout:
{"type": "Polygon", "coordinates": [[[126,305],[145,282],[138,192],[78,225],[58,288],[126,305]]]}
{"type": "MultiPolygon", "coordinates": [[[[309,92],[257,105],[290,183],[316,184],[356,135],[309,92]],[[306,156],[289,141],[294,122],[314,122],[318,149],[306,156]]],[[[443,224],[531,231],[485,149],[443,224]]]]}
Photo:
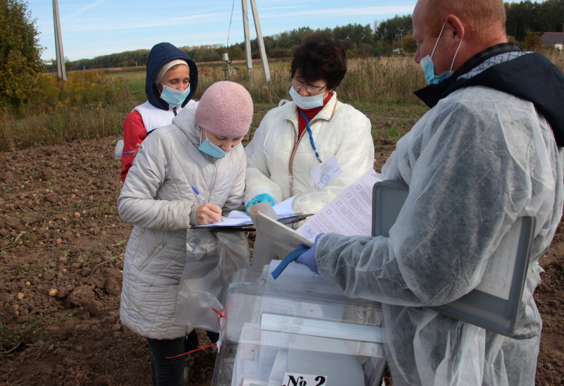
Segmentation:
{"type": "Polygon", "coordinates": [[[159,90],[154,86],[154,79],[157,77],[157,73],[162,66],[175,59],[186,61],[188,68],[190,68],[190,94],[188,94],[188,97],[182,102],[183,107],[192,99],[198,87],[198,68],[196,67],[196,63],[192,61],[188,55],[184,54],[183,51],[170,43],[155,44],[147,57],[145,94],[147,94],[149,103],[161,110],[168,110],[168,104],[157,97],[159,90]]]}

